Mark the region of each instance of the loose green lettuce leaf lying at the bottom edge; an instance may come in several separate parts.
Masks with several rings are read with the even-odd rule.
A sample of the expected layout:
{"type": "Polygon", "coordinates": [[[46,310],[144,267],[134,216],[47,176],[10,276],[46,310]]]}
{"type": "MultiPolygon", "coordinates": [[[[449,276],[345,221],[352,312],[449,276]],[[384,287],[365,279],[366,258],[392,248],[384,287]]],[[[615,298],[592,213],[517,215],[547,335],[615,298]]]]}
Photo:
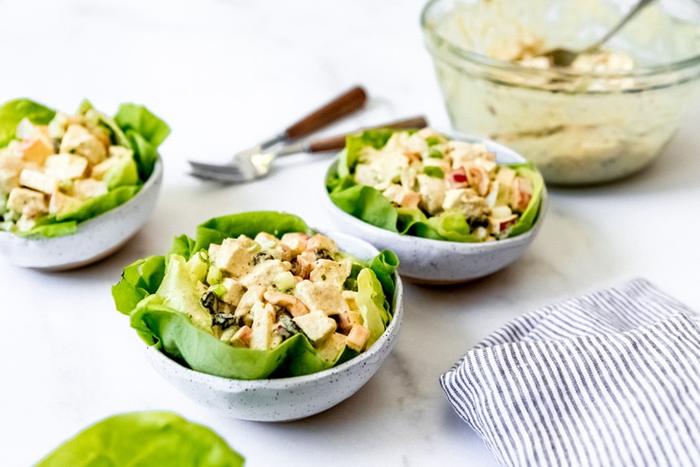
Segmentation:
{"type": "Polygon", "coordinates": [[[85,428],[35,467],[242,467],[210,428],[167,411],[111,416],[85,428]]]}

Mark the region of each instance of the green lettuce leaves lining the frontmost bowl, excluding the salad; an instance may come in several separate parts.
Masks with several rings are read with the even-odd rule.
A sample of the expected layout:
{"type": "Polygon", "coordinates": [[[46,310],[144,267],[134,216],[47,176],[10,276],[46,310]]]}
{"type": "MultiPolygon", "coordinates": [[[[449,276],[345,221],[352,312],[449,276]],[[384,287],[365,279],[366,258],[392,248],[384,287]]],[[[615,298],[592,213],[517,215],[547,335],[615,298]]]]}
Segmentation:
{"type": "MultiPolygon", "coordinates": [[[[235,348],[211,333],[211,317],[198,302],[194,272],[187,261],[211,243],[220,244],[223,238],[254,238],[261,231],[278,238],[287,232],[316,233],[301,218],[284,212],[244,212],[211,219],[197,226],[196,238],[176,237],[168,255],[128,265],[112,287],[118,311],[130,317],[131,326],[148,345],[182,365],[214,376],[301,376],[352,359],[357,352],[349,349],[333,360],[321,358],[303,333],[294,334],[273,350],[235,348]]],[[[358,306],[374,342],[393,316],[398,259],[385,250],[369,263],[357,258],[353,262],[346,285],[352,284],[358,291],[358,306]]]]}

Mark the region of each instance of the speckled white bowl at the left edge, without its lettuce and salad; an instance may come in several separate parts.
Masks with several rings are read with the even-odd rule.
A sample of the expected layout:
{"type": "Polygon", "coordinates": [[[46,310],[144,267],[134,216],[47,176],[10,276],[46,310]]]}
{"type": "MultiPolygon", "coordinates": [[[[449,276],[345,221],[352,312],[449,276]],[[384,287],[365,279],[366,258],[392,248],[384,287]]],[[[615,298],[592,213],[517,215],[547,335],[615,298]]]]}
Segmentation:
{"type": "Polygon", "coordinates": [[[141,190],[116,208],[78,224],[72,235],[19,237],[0,232],[0,254],[15,266],[60,271],[94,263],[114,253],[151,216],[162,185],[162,160],[141,190]]]}

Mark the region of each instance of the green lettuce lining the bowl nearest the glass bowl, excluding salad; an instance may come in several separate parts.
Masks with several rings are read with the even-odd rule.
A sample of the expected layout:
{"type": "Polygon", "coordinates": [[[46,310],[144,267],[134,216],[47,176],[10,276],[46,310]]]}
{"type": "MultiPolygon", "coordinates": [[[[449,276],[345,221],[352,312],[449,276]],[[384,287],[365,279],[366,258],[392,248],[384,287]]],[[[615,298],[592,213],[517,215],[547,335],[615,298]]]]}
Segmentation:
{"type": "MultiPolygon", "coordinates": [[[[388,129],[367,130],[347,137],[346,149],[340,152],[335,170],[326,177],[330,200],[355,218],[400,235],[454,242],[480,241],[471,234],[467,220],[459,212],[442,212],[427,217],[420,209],[396,207],[376,188],[354,182],[354,166],[363,148],[381,149],[392,133],[388,129]]],[[[538,220],[545,184],[538,169],[530,162],[507,164],[507,167],[527,177],[533,186],[532,199],[509,234],[509,237],[514,237],[528,231],[538,220]]]]}

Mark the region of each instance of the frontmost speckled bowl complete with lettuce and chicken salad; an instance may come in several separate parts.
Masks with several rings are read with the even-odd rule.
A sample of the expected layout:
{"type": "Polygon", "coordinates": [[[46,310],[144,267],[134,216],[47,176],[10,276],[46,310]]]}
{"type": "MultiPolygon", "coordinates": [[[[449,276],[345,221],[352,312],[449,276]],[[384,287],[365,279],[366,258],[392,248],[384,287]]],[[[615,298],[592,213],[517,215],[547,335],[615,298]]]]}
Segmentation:
{"type": "Polygon", "coordinates": [[[293,214],[244,212],[127,266],[112,296],[183,393],[280,421],[336,405],[380,368],[402,320],[397,265],[389,250],[293,214]]]}

